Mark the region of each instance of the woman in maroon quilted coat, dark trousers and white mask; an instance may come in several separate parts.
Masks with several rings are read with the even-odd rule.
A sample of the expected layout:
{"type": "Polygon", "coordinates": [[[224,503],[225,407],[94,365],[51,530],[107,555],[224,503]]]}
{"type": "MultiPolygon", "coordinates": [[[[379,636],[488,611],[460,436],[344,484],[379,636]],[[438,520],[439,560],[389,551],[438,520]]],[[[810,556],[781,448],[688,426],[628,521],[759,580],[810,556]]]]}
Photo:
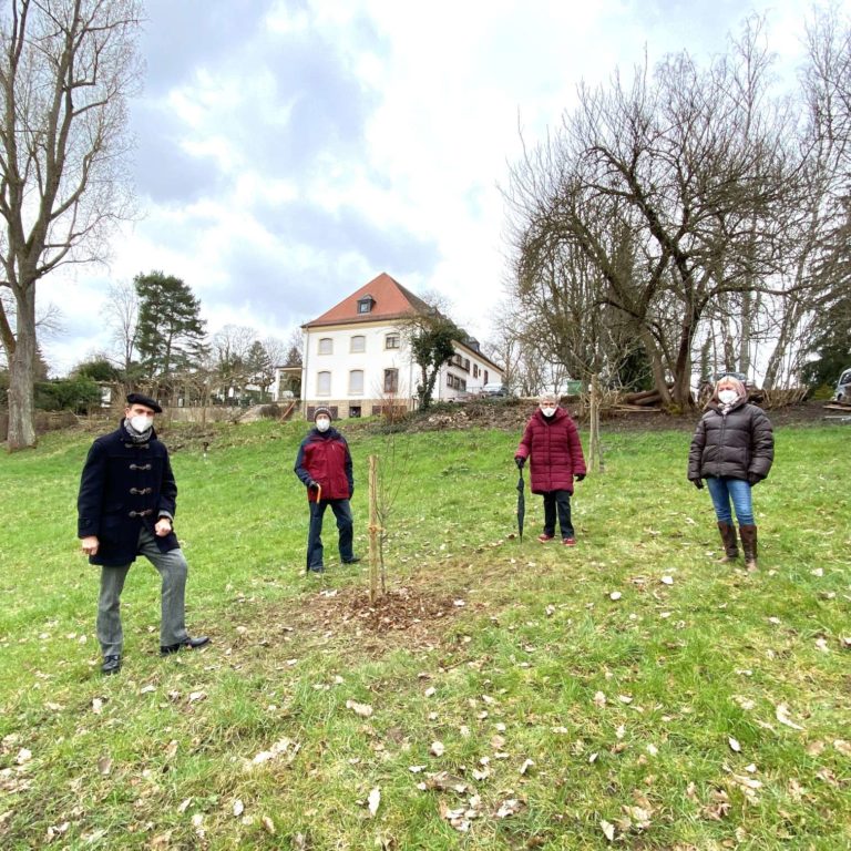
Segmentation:
{"type": "Polygon", "coordinates": [[[520,469],[531,458],[532,493],[544,498],[544,531],[537,536],[542,543],[555,537],[555,515],[562,543],[576,545],[571,523],[571,495],[574,479],[585,478],[585,458],[576,423],[552,393],[541,397],[539,409],[526,423],[514,461],[520,469]]]}

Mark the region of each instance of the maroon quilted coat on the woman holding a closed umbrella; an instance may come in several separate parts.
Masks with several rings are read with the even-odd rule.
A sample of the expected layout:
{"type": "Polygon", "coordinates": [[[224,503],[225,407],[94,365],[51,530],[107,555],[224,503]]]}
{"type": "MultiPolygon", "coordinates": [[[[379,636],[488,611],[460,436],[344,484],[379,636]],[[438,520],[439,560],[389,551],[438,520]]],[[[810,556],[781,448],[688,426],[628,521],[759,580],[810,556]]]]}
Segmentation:
{"type": "Polygon", "coordinates": [[[544,417],[539,408],[526,423],[514,458],[530,459],[532,493],[573,493],[573,476],[586,472],[580,432],[564,408],[556,408],[552,417],[544,417]]]}

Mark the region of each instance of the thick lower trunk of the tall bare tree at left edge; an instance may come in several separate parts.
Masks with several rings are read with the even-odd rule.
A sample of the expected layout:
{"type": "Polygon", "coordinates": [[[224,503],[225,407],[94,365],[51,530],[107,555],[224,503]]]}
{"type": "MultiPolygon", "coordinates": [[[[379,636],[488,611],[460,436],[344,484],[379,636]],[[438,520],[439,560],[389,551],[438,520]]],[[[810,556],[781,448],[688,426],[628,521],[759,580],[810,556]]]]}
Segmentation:
{"type": "Polygon", "coordinates": [[[35,288],[16,288],[17,340],[9,353],[9,434],[7,449],[35,445],[35,288]]]}

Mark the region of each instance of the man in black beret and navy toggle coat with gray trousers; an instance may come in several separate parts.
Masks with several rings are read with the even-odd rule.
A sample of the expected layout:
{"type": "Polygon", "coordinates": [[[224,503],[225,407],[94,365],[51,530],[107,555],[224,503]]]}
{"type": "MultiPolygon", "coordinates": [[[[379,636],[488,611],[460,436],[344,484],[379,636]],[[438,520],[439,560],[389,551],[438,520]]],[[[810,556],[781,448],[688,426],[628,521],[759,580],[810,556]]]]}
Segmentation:
{"type": "Polygon", "coordinates": [[[154,414],[162,410],[150,397],[130,393],[124,419],[115,431],[94,441],[80,480],[78,537],[89,563],[101,565],[98,640],[104,674],[121,668],[121,592],[137,555],[144,555],[162,577],[160,653],[195,649],[209,640],[186,633],[187,565],[173,529],[177,485],[168,450],[154,431],[154,414]]]}

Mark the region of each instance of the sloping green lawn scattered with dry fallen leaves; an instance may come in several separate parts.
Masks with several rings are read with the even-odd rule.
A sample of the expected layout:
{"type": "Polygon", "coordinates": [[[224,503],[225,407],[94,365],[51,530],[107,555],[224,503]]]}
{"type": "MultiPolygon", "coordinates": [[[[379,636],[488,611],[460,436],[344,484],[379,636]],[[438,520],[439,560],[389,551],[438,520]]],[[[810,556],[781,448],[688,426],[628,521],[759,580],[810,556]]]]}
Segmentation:
{"type": "Polygon", "coordinates": [[[0,458],[0,847],[851,848],[847,427],[778,429],[753,575],[714,563],[688,433],[604,433],[566,550],[531,494],[512,536],[519,434],[351,430],[361,554],[370,453],[394,492],[375,607],[330,513],[304,574],[303,431],[222,427],[206,457],[167,433],[213,643],[158,657],[139,563],[110,678],[75,540],[91,435],[0,458]]]}

